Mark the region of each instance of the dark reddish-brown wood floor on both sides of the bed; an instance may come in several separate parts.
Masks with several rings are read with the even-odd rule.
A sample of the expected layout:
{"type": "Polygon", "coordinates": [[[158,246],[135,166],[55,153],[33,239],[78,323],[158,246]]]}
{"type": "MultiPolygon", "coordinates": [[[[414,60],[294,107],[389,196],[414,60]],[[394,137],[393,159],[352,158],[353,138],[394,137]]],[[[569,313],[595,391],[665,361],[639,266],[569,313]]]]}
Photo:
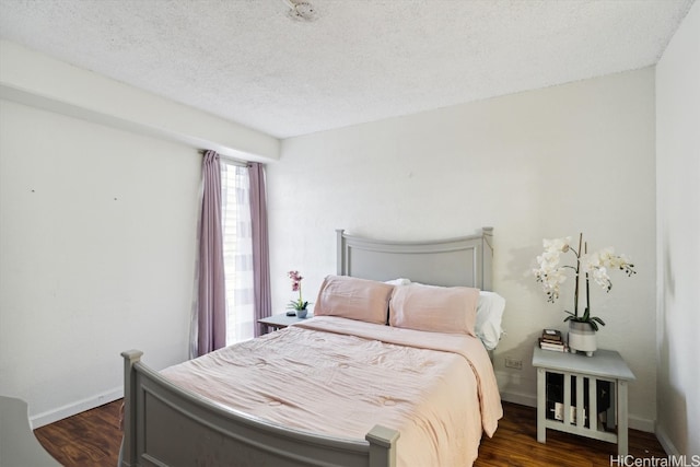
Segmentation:
{"type": "MultiPolygon", "coordinates": [[[[72,466],[117,465],[121,433],[119,406],[115,401],[34,431],[42,445],[61,464],[72,466]]],[[[535,409],[503,402],[504,418],[492,439],[485,437],[476,467],[609,467],[617,445],[551,430],[547,444],[537,442],[535,409]]],[[[665,457],[651,433],[630,430],[630,454],[639,458],[665,457]]],[[[615,464],[619,465],[619,464],[615,464]]],[[[422,466],[417,466],[422,467],[422,466]]]]}

